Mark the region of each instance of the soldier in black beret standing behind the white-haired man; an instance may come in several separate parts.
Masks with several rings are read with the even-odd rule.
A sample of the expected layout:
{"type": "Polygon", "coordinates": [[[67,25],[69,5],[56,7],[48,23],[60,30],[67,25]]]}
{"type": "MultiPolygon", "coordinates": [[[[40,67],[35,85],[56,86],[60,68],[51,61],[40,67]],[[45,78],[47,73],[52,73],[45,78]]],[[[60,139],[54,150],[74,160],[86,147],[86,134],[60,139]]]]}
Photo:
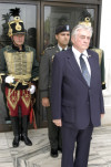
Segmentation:
{"type": "Polygon", "coordinates": [[[61,128],[57,127],[52,123],[50,97],[52,62],[57,52],[68,49],[68,43],[70,40],[69,25],[59,25],[56,29],[56,39],[58,41],[58,45],[46,49],[44,54],[41,56],[39,76],[41,103],[47,109],[49,140],[51,146],[50,155],[52,157],[58,157],[58,150],[62,152],[61,128]]]}

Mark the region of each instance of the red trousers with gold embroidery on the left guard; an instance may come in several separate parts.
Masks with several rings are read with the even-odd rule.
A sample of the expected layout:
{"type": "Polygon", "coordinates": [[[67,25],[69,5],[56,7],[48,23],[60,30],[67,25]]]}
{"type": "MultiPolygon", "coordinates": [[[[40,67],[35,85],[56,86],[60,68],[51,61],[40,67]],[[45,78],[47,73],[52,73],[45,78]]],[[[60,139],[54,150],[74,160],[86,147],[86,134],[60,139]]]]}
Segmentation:
{"type": "Polygon", "coordinates": [[[29,115],[31,95],[28,90],[12,90],[6,87],[6,97],[11,116],[18,116],[19,106],[21,107],[21,116],[29,115]]]}

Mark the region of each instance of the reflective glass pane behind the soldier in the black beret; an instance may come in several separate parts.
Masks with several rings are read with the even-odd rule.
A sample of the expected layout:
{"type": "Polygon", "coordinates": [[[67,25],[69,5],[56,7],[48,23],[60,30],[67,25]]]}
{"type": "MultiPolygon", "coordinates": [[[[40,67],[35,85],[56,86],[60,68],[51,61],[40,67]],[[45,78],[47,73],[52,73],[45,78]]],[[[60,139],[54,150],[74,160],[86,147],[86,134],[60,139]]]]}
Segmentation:
{"type": "Polygon", "coordinates": [[[44,49],[57,43],[54,32],[58,25],[69,24],[72,30],[72,28],[83,19],[85,13],[91,15],[91,22],[93,25],[94,9],[82,7],[44,6],[44,49]]]}

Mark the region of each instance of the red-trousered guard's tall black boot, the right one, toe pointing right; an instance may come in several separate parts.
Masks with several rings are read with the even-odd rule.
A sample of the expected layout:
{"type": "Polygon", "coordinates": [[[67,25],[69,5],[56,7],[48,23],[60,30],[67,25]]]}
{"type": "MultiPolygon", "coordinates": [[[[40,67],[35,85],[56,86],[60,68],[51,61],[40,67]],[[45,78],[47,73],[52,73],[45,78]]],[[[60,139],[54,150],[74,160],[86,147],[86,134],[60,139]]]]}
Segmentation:
{"type": "Polygon", "coordinates": [[[21,133],[21,140],[24,142],[26,145],[32,146],[32,142],[28,137],[28,115],[22,117],[22,133],[21,133]]]}

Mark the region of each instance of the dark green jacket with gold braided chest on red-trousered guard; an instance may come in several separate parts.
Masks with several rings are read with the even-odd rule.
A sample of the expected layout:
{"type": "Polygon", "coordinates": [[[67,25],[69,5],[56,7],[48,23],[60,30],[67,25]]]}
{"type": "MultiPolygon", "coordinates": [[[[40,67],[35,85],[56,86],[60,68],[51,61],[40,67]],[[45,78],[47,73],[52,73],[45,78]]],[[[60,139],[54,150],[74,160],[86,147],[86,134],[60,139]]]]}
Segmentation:
{"type": "MultiPolygon", "coordinates": [[[[17,80],[14,80],[13,85],[7,84],[8,87],[13,88],[14,84],[20,76],[23,76],[23,82],[26,82],[26,76],[30,75],[27,80],[28,83],[33,83],[38,81],[38,71],[39,71],[39,63],[36,59],[36,50],[31,46],[23,45],[22,51],[14,45],[8,45],[0,51],[0,76],[2,82],[4,82],[6,76],[16,74],[17,80]],[[31,54],[29,54],[29,52],[31,54]],[[19,61],[20,60],[20,61],[19,61]],[[19,63],[18,63],[19,61],[19,63]],[[12,63],[12,64],[11,64],[12,63]],[[20,66],[19,66],[20,64],[20,66]],[[31,66],[30,66],[31,65],[31,66]]],[[[28,84],[19,83],[16,90],[23,90],[27,88],[28,84]]]]}

